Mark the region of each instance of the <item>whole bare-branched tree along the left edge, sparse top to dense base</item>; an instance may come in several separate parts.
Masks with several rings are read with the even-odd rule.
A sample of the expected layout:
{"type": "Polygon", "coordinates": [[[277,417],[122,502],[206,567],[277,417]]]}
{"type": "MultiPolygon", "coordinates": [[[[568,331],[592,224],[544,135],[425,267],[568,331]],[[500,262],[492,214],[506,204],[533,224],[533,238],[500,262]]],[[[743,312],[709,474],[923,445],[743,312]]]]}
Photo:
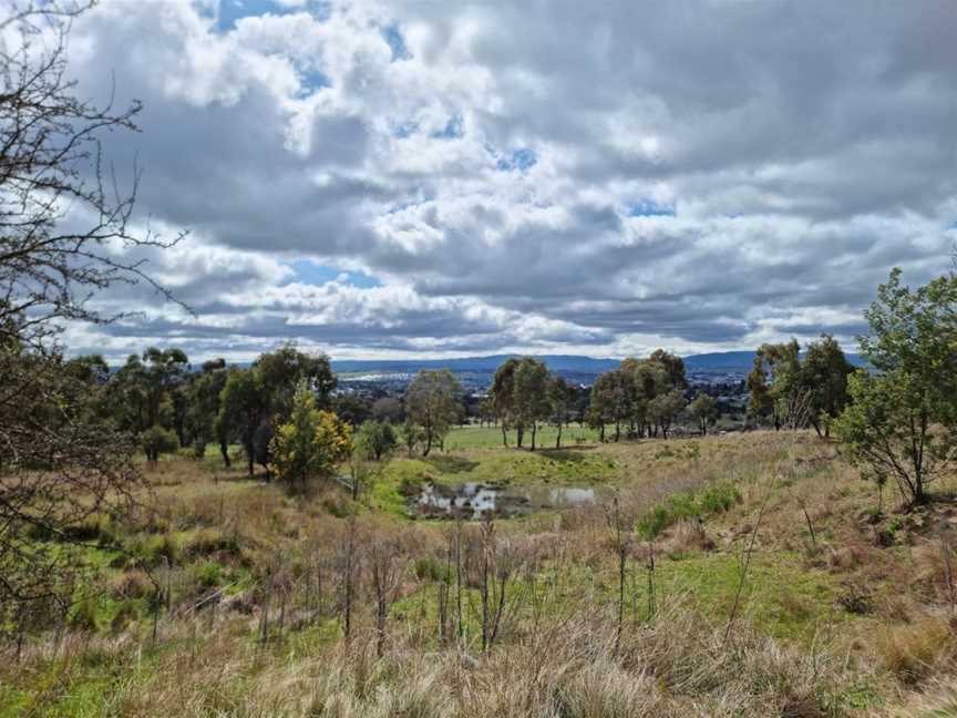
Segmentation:
{"type": "MultiPolygon", "coordinates": [[[[105,324],[90,301],[116,284],[169,294],[119,247],[167,247],[130,230],[132,188],[104,176],[100,142],[135,130],[138,103],[97,107],[74,94],[66,38],[85,3],[6,6],[0,17],[0,622],[30,602],[65,607],[82,561],[71,526],[130,517],[145,486],[135,443],[89,421],[93,384],[52,338],[65,321],[105,324]],[[33,541],[32,535],[54,541],[33,541]]],[[[142,256],[142,255],[141,255],[142,256]]]]}

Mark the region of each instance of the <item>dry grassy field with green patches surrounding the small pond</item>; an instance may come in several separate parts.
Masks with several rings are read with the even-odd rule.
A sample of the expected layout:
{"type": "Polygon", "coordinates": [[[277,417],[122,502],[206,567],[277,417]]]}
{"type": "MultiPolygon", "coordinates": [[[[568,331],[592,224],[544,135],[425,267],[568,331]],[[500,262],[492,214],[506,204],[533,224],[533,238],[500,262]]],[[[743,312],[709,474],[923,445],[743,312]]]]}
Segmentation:
{"type": "Polygon", "coordinates": [[[457,429],[357,502],[164,459],[137,525],[78,529],[69,620],[3,644],[0,716],[957,715],[954,478],[904,514],[810,432],[565,440],[457,429]],[[603,493],[408,509],[471,481],[603,493]]]}

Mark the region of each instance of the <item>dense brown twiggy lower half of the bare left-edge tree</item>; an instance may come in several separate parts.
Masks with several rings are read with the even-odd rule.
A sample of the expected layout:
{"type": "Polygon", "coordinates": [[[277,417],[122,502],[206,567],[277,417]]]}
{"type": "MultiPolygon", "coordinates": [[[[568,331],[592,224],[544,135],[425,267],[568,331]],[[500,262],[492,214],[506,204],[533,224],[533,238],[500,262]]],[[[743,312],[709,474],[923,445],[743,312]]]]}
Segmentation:
{"type": "Polygon", "coordinates": [[[74,369],[0,339],[0,622],[28,606],[65,612],[85,565],[71,529],[101,513],[132,520],[147,489],[132,437],[90,420],[96,384],[74,369]]]}

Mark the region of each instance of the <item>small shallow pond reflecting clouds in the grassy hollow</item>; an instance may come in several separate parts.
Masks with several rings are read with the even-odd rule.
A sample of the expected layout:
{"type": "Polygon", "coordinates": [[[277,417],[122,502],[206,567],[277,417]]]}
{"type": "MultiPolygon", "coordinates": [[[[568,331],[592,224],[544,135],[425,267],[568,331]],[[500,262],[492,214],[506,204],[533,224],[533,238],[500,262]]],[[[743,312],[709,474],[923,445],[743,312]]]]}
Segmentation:
{"type": "Polygon", "coordinates": [[[426,483],[411,500],[410,509],[421,516],[480,520],[508,517],[547,509],[567,509],[594,503],[591,486],[510,486],[469,482],[457,485],[426,483]]]}

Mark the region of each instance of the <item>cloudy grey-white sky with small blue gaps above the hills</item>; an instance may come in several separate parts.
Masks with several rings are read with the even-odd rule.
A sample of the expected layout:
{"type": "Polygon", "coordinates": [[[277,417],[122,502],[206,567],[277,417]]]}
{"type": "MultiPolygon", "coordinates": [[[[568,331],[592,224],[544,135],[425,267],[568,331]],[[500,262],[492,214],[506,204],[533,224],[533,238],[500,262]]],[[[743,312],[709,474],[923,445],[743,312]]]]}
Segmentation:
{"type": "MultiPolygon", "coordinates": [[[[73,351],[246,360],[848,349],[957,242],[957,4],[104,0],[78,94],[142,171],[136,316],[73,351]]],[[[128,249],[111,248],[117,256],[128,249]]],[[[128,256],[126,257],[128,258],[128,256]]]]}

